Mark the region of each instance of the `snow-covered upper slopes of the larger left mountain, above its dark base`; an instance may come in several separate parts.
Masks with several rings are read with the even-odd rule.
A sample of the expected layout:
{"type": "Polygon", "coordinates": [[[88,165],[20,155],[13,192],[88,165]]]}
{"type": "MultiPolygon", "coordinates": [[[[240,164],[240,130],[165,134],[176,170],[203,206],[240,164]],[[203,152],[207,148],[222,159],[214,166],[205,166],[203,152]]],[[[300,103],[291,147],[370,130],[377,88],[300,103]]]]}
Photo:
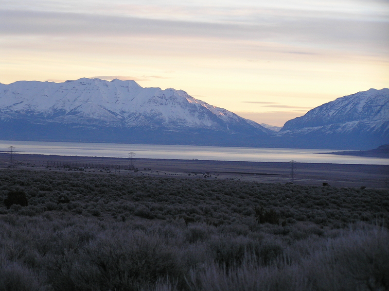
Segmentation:
{"type": "Polygon", "coordinates": [[[135,81],[82,78],[64,83],[0,84],[0,120],[168,129],[208,128],[269,134],[268,129],[189,96],[135,81]]]}

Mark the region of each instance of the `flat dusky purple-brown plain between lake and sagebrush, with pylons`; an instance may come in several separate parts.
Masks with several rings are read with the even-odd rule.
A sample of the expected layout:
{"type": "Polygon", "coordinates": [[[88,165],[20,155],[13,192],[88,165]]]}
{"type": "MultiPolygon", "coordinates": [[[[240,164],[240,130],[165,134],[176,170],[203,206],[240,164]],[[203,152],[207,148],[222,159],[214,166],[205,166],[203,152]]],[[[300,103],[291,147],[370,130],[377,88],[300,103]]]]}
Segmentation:
{"type": "Polygon", "coordinates": [[[237,179],[263,183],[328,183],[336,187],[389,188],[389,165],[82,157],[0,153],[0,169],[83,171],[86,173],[237,179]]]}

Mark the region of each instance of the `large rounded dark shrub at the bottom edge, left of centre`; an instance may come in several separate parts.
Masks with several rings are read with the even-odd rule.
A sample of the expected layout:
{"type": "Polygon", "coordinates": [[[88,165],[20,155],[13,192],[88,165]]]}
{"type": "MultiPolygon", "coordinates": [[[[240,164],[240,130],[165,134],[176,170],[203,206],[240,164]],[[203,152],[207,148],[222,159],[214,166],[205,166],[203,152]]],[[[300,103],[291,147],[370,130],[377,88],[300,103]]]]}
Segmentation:
{"type": "Polygon", "coordinates": [[[54,290],[140,291],[163,278],[183,282],[174,252],[156,237],[139,231],[133,235],[102,235],[83,247],[77,257],[65,254],[57,271],[51,273],[54,290]]]}

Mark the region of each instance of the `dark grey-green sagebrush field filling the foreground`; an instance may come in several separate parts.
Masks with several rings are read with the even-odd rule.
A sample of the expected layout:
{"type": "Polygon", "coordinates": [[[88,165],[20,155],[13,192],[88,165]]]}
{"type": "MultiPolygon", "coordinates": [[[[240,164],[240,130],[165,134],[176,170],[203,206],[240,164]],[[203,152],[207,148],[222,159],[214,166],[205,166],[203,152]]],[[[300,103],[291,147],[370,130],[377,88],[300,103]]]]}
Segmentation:
{"type": "Polygon", "coordinates": [[[0,291],[388,290],[388,226],[388,190],[0,171],[0,291]]]}

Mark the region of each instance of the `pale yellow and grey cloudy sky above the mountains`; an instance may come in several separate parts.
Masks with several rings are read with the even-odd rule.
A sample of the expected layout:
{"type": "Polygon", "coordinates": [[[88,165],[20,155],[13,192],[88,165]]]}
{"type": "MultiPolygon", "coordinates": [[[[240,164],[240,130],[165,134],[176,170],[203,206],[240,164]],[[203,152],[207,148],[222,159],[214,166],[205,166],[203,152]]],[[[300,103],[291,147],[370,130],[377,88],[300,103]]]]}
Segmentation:
{"type": "Polygon", "coordinates": [[[0,0],[0,83],[83,77],[282,126],[389,87],[389,1],[0,0]]]}

